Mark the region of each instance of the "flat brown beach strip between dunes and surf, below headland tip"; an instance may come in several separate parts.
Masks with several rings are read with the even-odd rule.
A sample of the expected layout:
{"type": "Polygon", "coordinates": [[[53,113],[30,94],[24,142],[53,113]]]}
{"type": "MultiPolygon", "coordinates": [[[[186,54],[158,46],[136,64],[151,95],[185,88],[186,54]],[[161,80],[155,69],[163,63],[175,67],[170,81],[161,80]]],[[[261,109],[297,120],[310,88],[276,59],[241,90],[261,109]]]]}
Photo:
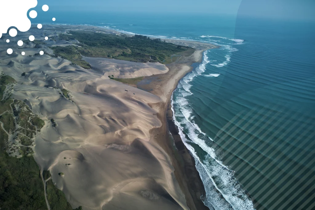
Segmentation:
{"type": "MultiPolygon", "coordinates": [[[[195,160],[193,156],[189,153],[189,150],[184,145],[179,135],[178,128],[176,127],[173,121],[173,111],[171,109],[171,96],[174,90],[177,88],[179,81],[194,69],[192,64],[202,62],[203,53],[206,50],[209,49],[203,50],[195,49],[194,54],[196,55],[197,52],[198,54],[197,57],[196,56],[193,58],[190,57],[190,59],[186,60],[185,65],[181,66],[177,64],[181,67],[181,71],[180,70],[178,71],[179,75],[176,75],[175,80],[173,80],[174,77],[169,78],[169,81],[174,82],[172,88],[169,89],[169,92],[165,97],[166,100],[159,104],[149,104],[153,108],[158,108],[159,112],[157,113],[157,116],[159,120],[162,122],[162,126],[160,128],[153,128],[152,130],[150,130],[152,139],[155,142],[157,142],[171,158],[172,165],[174,167],[175,178],[179,183],[182,192],[185,195],[187,206],[190,209],[196,210],[197,209],[209,210],[209,208],[206,207],[202,201],[202,197],[206,195],[206,192],[204,189],[203,182],[200,178],[199,172],[195,166],[195,160]]],[[[176,68],[177,67],[176,64],[171,64],[167,66],[170,72],[178,70],[176,68]]],[[[162,75],[156,75],[151,77],[160,78],[161,76],[162,75]]],[[[155,87],[155,85],[152,84],[151,87],[155,87]]],[[[149,92],[156,95],[160,94],[158,91],[154,90],[149,92]]]]}

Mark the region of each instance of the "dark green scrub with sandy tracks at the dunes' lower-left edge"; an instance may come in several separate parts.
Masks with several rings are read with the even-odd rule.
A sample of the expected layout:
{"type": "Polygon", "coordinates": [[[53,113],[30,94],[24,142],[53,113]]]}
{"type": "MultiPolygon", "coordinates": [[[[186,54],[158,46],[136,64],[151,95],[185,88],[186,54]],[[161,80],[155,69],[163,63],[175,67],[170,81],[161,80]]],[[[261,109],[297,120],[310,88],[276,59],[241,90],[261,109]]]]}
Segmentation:
{"type": "MultiPolygon", "coordinates": [[[[0,75],[0,95],[14,85],[12,77],[0,75]]],[[[24,101],[0,98],[0,207],[2,210],[47,210],[40,170],[30,147],[36,130],[44,126],[24,101]],[[19,127],[17,127],[19,125],[19,127]],[[15,136],[10,137],[10,136],[15,136]],[[10,139],[13,138],[13,139],[10,139]],[[14,143],[15,140],[21,145],[14,143]]],[[[44,178],[49,178],[44,171],[44,178]]],[[[50,179],[47,183],[50,208],[72,210],[65,195],[50,179]]],[[[82,207],[75,210],[82,210],[82,207]]]]}

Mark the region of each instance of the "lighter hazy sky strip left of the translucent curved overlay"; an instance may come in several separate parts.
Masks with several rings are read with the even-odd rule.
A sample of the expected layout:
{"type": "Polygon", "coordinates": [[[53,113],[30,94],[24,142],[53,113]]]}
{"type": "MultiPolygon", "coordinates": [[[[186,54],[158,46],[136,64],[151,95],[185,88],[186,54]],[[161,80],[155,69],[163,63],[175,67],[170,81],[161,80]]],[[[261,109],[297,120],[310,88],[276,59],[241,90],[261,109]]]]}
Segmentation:
{"type": "Polygon", "coordinates": [[[47,4],[58,10],[236,14],[240,2],[241,0],[54,0],[47,4]]]}

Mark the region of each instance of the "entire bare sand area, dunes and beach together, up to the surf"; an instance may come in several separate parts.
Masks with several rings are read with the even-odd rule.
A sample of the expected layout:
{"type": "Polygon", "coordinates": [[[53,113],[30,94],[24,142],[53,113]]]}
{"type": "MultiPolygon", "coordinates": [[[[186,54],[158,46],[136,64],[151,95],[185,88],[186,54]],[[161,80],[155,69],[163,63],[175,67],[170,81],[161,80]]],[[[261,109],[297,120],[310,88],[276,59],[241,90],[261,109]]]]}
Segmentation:
{"type": "MultiPolygon", "coordinates": [[[[52,37],[67,30],[118,34],[92,26],[50,25],[37,35],[52,37]]],[[[12,97],[45,121],[34,139],[35,160],[50,171],[72,207],[207,209],[194,160],[172,124],[170,97],[191,65],[217,46],[166,42],[194,49],[166,66],[84,58],[92,65],[87,70],[49,55],[49,46],[72,42],[49,40],[41,47],[43,56],[36,55],[39,50],[31,44],[11,55],[5,50],[9,44],[1,47],[0,70],[17,81],[12,97]],[[144,79],[135,88],[109,79],[111,75],[144,79]]]]}

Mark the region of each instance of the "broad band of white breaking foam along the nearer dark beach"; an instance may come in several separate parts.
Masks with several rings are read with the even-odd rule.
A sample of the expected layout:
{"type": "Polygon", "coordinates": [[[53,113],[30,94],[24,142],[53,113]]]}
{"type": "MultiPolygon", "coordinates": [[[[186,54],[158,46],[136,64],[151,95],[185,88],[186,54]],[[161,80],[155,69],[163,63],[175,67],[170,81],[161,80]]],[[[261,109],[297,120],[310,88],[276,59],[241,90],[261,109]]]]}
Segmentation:
{"type": "MultiPolygon", "coordinates": [[[[181,84],[178,85],[179,90],[181,84]]],[[[174,94],[174,93],[173,93],[174,94]]],[[[193,122],[193,110],[189,105],[189,101],[176,95],[175,101],[172,95],[172,111],[174,113],[173,120],[179,129],[179,134],[187,149],[192,153],[196,161],[196,167],[202,180],[205,182],[206,201],[211,203],[215,209],[235,209],[235,210],[247,210],[254,209],[252,201],[246,196],[244,190],[238,184],[234,178],[233,171],[229,170],[223,163],[217,160],[215,150],[208,146],[207,141],[211,141],[205,133],[203,133],[198,125],[193,122]],[[179,106],[177,110],[174,109],[174,104],[179,106]],[[180,119],[180,122],[176,121],[176,118],[180,119]],[[183,127],[185,125],[185,127],[183,127]],[[186,138],[185,133],[189,139],[186,138]],[[194,148],[190,145],[190,142],[199,145],[208,154],[201,160],[194,148]],[[216,177],[215,181],[212,177],[216,177]],[[207,182],[208,180],[208,182],[207,182]],[[213,186],[218,190],[225,200],[232,206],[229,207],[226,201],[220,199],[220,194],[215,192],[213,186],[211,186],[211,180],[213,186]]],[[[207,202],[204,202],[207,204],[207,202]]],[[[208,205],[209,205],[208,203],[208,205]]]]}

